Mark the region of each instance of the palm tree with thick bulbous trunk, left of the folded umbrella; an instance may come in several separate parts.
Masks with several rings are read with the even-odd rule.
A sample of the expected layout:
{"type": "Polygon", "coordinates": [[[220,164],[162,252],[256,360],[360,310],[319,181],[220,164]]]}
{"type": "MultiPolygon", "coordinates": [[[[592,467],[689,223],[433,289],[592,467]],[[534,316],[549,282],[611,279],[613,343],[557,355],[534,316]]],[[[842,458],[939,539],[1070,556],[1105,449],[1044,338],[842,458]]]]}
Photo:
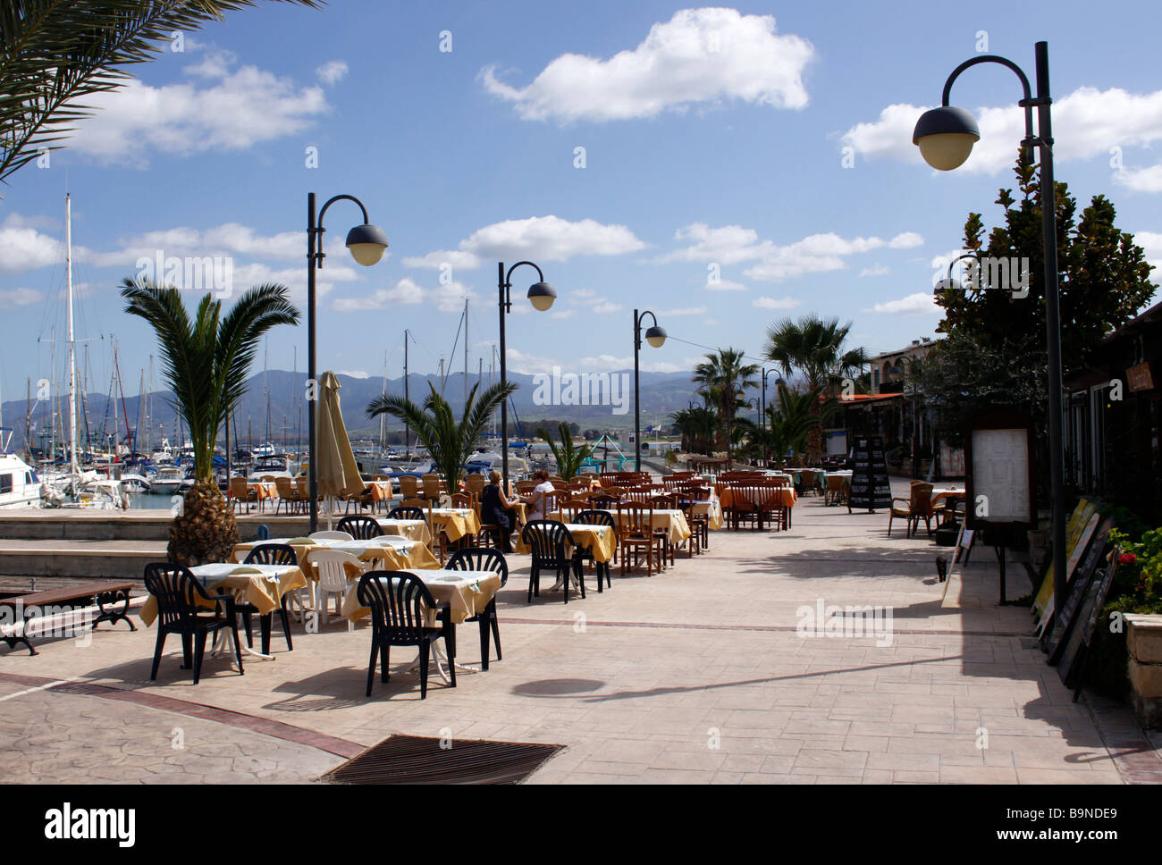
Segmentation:
{"type": "Polygon", "coordinates": [[[263,336],[280,324],[297,324],[299,310],[286,286],[266,283],[246,291],[224,318],[222,302],[206,295],[191,320],[177,288],[128,277],[121,284],[125,312],[144,318],[157,334],[162,374],[194,447],[194,485],[170,527],[170,560],[186,565],[225,562],[238,542],[238,527],[214,482],[214,442],[246,392],[263,336]]]}

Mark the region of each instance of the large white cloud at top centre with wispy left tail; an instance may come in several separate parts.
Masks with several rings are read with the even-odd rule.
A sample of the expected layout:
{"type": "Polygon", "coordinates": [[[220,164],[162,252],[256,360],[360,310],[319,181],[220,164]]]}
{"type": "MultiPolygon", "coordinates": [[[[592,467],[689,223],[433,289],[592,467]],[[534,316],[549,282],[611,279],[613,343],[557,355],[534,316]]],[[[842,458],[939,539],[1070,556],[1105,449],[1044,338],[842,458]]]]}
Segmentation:
{"type": "Polygon", "coordinates": [[[813,56],[806,39],[776,34],[773,15],[681,9],[608,60],[561,55],[523,88],[500,81],[493,66],[481,78],[525,120],[605,122],[736,100],[803,108],[803,72],[813,56]]]}

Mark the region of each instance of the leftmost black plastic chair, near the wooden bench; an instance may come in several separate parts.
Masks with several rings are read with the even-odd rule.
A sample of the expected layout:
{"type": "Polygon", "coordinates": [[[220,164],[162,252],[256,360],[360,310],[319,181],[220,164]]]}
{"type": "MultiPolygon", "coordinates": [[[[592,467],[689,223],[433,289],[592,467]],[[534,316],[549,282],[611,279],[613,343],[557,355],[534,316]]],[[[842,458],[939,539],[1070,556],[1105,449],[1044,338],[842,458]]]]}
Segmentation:
{"type": "Polygon", "coordinates": [[[153,649],[153,669],[150,682],[157,679],[157,668],[168,634],[181,636],[182,670],[193,668],[194,684],[202,676],[202,656],[206,637],[222,628],[234,635],[234,655],[238,675],[243,675],[242,647],[238,642],[238,619],[232,594],[210,594],[188,568],[174,562],[151,562],[145,565],[145,588],[157,600],[157,647],[153,649]],[[198,600],[214,601],[213,615],[198,600]],[[196,643],[193,641],[196,640],[196,643]],[[191,655],[193,657],[191,657],[191,655]]]}

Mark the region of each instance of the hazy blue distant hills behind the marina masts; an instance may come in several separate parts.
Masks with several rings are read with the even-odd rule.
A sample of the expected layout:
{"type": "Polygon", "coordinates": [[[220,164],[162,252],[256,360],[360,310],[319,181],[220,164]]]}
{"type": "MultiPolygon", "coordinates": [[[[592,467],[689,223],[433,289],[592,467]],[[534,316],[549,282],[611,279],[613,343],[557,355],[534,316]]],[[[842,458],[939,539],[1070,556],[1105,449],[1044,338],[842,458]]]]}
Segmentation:
{"type": "MultiPolygon", "coordinates": [[[[610,374],[610,379],[601,379],[582,382],[572,382],[562,377],[557,383],[557,392],[553,392],[552,382],[544,380],[533,381],[533,376],[511,374],[509,381],[519,385],[512,396],[509,409],[509,428],[514,434],[519,434],[517,424],[522,425],[525,435],[532,435],[536,428],[533,421],[543,419],[567,420],[576,423],[582,430],[627,430],[633,427],[633,372],[610,374]],[[539,384],[539,387],[538,387],[539,384]],[[586,388],[584,385],[588,384],[586,388]],[[594,397],[602,397],[605,404],[602,405],[579,405],[560,404],[578,403],[584,399],[588,391],[594,397]],[[536,404],[535,397],[540,397],[550,404],[536,404]],[[557,399],[557,404],[553,401],[557,399]],[[615,413],[615,409],[623,413],[615,413]]],[[[342,390],[339,397],[343,405],[343,417],[352,437],[375,437],[379,433],[379,421],[367,417],[367,404],[383,390],[382,379],[354,379],[347,375],[339,375],[342,390]]],[[[270,427],[271,439],[275,442],[295,439],[301,418],[301,440],[307,439],[307,413],[306,403],[302,399],[306,392],[306,373],[290,373],[286,370],[268,370],[266,373],[266,388],[270,391],[270,427]]],[[[476,376],[468,376],[468,387],[476,383],[476,376]]],[[[488,387],[488,375],[485,375],[483,387],[488,387]]],[[[429,387],[440,388],[437,375],[411,375],[408,376],[408,389],[410,397],[416,402],[422,402],[429,392],[429,387]]],[[[669,412],[684,409],[691,399],[696,399],[694,384],[690,374],[683,373],[641,373],[641,425],[646,427],[651,424],[667,423],[669,412]]],[[[400,394],[404,391],[403,377],[389,379],[387,392],[400,394]]],[[[464,373],[456,373],[447,377],[444,383],[444,396],[459,412],[464,404],[464,373]]],[[[146,405],[152,408],[152,417],[149,419],[148,441],[150,446],[160,442],[159,425],[164,427],[165,435],[171,444],[177,444],[177,417],[168,405],[168,391],[158,391],[150,395],[146,405]]],[[[125,395],[124,403],[120,397],[116,401],[117,438],[125,435],[125,416],[129,417],[129,428],[136,431],[141,417],[141,398],[138,396],[125,395]]],[[[56,406],[59,417],[67,421],[69,403],[67,397],[59,401],[56,406]]],[[[84,417],[81,419],[81,434],[87,428],[98,439],[103,432],[106,435],[114,430],[114,404],[106,394],[87,394],[83,399],[84,417]]],[[[51,428],[51,412],[53,406],[40,403],[33,411],[30,418],[31,438],[38,442],[41,431],[51,428]]],[[[2,423],[13,428],[13,447],[23,447],[27,403],[23,399],[13,399],[0,405],[2,411],[2,423]]],[[[63,425],[58,417],[57,435],[62,435],[63,425]]],[[[498,423],[498,421],[497,421],[498,423]]],[[[237,437],[246,446],[250,441],[254,445],[266,439],[267,424],[267,395],[263,390],[263,373],[253,375],[249,380],[248,394],[244,397],[239,410],[236,412],[234,424],[230,430],[231,439],[237,431],[237,437]]],[[[388,430],[397,431],[401,425],[395,419],[389,419],[388,430]]],[[[553,431],[555,432],[555,430],[553,431]]],[[[139,437],[139,442],[145,444],[146,438],[139,437]]],[[[96,441],[94,441],[96,446],[96,441]]],[[[139,447],[139,446],[138,446],[139,447]]]]}

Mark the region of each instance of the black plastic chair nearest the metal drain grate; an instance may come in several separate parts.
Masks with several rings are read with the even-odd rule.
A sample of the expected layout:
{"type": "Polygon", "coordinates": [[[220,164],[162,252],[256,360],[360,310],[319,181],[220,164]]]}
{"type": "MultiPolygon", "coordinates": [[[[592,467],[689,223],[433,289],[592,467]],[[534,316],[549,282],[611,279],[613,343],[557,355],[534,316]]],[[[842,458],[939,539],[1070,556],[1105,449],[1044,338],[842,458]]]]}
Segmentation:
{"type": "Polygon", "coordinates": [[[387,665],[393,646],[419,648],[419,699],[428,697],[428,662],[431,646],[444,637],[447,646],[447,669],[456,687],[456,626],[451,607],[437,604],[431,590],[415,574],[373,570],[359,578],[356,589],[359,604],[371,610],[371,663],[367,665],[367,695],[375,680],[375,658],[380,658],[380,677],[388,680],[387,665]],[[424,622],[424,608],[436,611],[440,627],[424,622]],[[380,654],[382,653],[382,654],[380,654]]]}

